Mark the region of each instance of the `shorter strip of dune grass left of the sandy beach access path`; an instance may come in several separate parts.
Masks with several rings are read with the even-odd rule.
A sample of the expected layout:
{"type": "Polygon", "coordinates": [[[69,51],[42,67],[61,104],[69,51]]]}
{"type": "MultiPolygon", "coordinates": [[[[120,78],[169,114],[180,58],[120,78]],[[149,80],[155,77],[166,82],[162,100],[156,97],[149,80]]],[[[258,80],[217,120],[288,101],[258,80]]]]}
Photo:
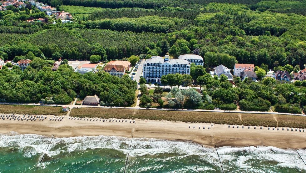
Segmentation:
{"type": "Polygon", "coordinates": [[[3,114],[30,114],[30,115],[66,115],[62,107],[34,106],[34,105],[0,105],[0,113],[3,114]]]}

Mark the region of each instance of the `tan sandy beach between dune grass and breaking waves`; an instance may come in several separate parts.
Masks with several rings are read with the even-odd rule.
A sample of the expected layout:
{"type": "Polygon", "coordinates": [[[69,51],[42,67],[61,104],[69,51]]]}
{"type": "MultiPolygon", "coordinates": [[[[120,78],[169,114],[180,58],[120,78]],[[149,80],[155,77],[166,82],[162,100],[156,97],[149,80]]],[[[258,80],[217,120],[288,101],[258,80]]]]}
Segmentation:
{"type": "MultiPolygon", "coordinates": [[[[22,116],[21,116],[22,117],[22,116]]],[[[26,116],[27,117],[27,116],[26,116]]],[[[45,117],[45,116],[44,116],[45,117]]],[[[306,148],[306,132],[287,131],[287,128],[275,128],[268,130],[267,127],[251,126],[249,129],[244,126],[230,128],[228,125],[205,124],[205,123],[184,123],[173,121],[139,120],[133,121],[114,119],[114,121],[103,122],[90,119],[72,120],[64,116],[62,121],[53,121],[53,116],[48,115],[44,121],[31,120],[0,120],[0,133],[15,131],[19,134],[38,134],[54,137],[72,136],[96,136],[114,135],[134,138],[157,138],[168,140],[191,140],[205,146],[249,146],[262,145],[274,146],[278,148],[306,148]],[[118,120],[116,122],[116,120],[118,120]],[[189,128],[190,126],[190,128],[189,128]],[[195,128],[193,128],[195,126],[195,128]],[[200,126],[200,129],[199,129],[200,126]],[[203,129],[205,127],[205,129],[203,129]],[[210,127],[210,129],[208,129],[210,127]]],[[[113,119],[111,119],[113,120],[113,119]]]]}

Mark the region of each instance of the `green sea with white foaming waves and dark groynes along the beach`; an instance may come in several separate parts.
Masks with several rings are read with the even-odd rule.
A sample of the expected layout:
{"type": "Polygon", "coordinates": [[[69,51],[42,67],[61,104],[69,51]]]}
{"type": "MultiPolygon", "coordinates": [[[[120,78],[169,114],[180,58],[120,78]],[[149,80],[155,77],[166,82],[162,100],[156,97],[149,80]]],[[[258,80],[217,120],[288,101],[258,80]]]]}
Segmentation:
{"type": "Polygon", "coordinates": [[[306,173],[302,159],[306,160],[305,149],[210,148],[191,141],[103,135],[0,134],[0,173],[306,173]]]}

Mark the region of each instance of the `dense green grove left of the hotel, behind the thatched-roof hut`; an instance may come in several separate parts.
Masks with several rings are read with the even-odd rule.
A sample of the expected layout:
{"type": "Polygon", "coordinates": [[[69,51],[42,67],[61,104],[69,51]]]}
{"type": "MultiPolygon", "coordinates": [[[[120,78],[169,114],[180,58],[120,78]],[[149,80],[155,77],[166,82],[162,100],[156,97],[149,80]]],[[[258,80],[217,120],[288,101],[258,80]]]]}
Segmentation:
{"type": "Polygon", "coordinates": [[[137,85],[127,75],[122,78],[108,73],[81,75],[66,64],[57,71],[49,66],[46,60],[36,57],[24,71],[18,66],[0,70],[1,101],[38,103],[44,99],[50,104],[70,104],[77,95],[82,99],[96,94],[101,101],[113,105],[134,103],[137,85]]]}

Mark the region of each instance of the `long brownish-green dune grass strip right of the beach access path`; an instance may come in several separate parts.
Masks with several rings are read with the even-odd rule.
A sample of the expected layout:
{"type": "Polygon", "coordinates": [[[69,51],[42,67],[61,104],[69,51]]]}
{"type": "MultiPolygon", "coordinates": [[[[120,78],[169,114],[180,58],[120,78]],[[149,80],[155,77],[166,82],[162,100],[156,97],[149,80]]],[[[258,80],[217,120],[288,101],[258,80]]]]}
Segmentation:
{"type": "Polygon", "coordinates": [[[81,108],[72,109],[71,116],[143,120],[169,120],[230,125],[306,128],[306,117],[275,114],[237,114],[223,112],[170,111],[146,109],[81,108]],[[241,120],[239,115],[241,115],[241,120]],[[274,119],[276,117],[277,121],[274,119]]]}

